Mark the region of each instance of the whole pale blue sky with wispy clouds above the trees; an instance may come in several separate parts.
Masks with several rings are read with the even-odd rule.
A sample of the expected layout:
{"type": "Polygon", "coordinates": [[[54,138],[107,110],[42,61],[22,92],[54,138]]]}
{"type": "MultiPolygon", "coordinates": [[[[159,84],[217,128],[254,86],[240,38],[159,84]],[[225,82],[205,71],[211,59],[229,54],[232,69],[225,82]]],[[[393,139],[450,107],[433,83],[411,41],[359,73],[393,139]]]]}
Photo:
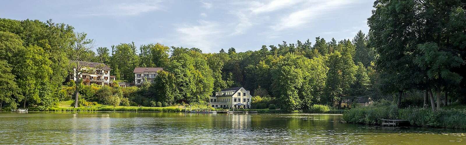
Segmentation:
{"type": "Polygon", "coordinates": [[[2,0],[0,18],[52,19],[88,34],[96,47],[234,47],[259,50],[282,41],[351,39],[369,31],[373,0],[2,0]]]}

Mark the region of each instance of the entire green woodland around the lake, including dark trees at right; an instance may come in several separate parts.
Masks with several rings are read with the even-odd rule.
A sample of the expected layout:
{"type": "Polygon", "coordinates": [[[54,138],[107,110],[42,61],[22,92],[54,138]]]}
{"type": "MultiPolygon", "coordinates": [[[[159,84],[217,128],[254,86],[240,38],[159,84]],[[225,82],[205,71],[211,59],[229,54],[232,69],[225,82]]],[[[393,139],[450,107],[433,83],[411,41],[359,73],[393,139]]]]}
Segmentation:
{"type": "Polygon", "coordinates": [[[218,53],[159,43],[94,48],[85,33],[66,24],[0,19],[0,108],[54,106],[73,99],[76,88],[84,103],[204,103],[213,92],[235,86],[257,96],[256,108],[274,104],[288,111],[369,97],[399,107],[431,105],[434,111],[441,99],[466,103],[465,2],[377,0],[374,7],[370,31],[352,40],[316,37],[218,53]],[[141,88],[64,83],[69,60],[76,58],[109,65],[122,82],[133,81],[135,67],[164,71],[141,88]]]}

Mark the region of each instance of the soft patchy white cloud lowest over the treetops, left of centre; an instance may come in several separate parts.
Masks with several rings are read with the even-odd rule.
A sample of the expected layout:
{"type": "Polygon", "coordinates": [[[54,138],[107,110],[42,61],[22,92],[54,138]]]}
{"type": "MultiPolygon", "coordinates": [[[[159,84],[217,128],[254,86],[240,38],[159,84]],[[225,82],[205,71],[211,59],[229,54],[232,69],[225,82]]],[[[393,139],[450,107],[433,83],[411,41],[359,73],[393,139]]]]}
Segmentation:
{"type": "Polygon", "coordinates": [[[225,33],[219,23],[205,20],[199,20],[199,25],[185,24],[175,30],[182,45],[196,47],[204,52],[212,52],[212,48],[218,46],[220,36],[225,33]]]}

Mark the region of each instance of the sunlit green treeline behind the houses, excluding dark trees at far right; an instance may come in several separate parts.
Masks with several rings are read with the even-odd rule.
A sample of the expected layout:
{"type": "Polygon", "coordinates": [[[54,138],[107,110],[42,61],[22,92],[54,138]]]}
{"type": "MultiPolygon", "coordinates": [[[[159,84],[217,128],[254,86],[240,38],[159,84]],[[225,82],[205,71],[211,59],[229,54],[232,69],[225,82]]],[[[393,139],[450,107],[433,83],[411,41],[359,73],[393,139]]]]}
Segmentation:
{"type": "MultiPolygon", "coordinates": [[[[276,100],[277,107],[294,111],[314,104],[335,105],[379,92],[370,86],[377,80],[371,66],[375,54],[369,46],[369,37],[361,31],[352,41],[326,42],[317,37],[314,44],[310,40],[304,43],[298,40],[295,44],[283,41],[278,46],[238,53],[233,47],[227,52],[221,49],[219,53],[202,53],[198,48],[158,43],[141,45],[138,49],[134,43],[121,43],[111,46],[111,50],[98,47],[96,52],[86,49],[85,53],[76,54],[72,52],[77,44],[84,41],[91,44],[92,40],[66,24],[1,19],[0,30],[1,59],[5,66],[1,79],[6,92],[0,101],[9,107],[21,102],[23,106],[48,107],[71,99],[71,94],[60,90],[69,74],[69,60],[77,57],[109,65],[111,74],[124,82],[133,81],[134,67],[164,67],[156,83],[144,84],[131,97],[120,97],[140,105],[201,103],[222,88],[244,86],[253,94],[257,92],[257,96],[276,100]]],[[[95,101],[92,98],[98,95],[84,96],[83,99],[95,101]]]]}

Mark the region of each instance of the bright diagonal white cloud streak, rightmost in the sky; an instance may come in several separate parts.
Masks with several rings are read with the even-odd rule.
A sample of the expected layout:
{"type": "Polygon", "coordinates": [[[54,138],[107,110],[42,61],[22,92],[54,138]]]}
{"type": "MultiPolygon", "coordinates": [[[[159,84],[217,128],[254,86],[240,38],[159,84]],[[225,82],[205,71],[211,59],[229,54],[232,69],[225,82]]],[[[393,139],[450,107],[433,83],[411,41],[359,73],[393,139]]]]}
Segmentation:
{"type": "Polygon", "coordinates": [[[286,17],[281,18],[278,24],[270,26],[275,31],[280,31],[288,28],[301,27],[304,24],[310,23],[316,18],[322,17],[326,14],[333,13],[336,9],[345,7],[354,1],[349,0],[326,0],[315,1],[310,3],[309,7],[295,11],[288,14],[286,17]]]}

